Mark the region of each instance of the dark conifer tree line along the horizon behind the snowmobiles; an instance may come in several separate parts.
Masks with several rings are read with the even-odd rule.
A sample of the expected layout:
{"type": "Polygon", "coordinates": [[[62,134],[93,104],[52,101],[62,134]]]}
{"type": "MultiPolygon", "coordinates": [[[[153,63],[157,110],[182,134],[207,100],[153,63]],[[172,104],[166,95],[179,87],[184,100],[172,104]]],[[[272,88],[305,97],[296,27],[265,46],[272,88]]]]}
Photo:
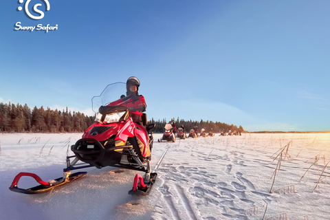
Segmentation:
{"type": "MultiPolygon", "coordinates": [[[[0,132],[17,132],[17,133],[70,133],[78,132],[83,133],[91,124],[94,123],[94,116],[87,116],[80,112],[71,112],[67,108],[63,111],[52,110],[49,107],[44,109],[43,107],[34,107],[30,109],[27,104],[3,104],[0,102],[0,132]]],[[[237,128],[234,124],[225,124],[222,122],[212,121],[185,121],[170,120],[175,122],[177,128],[181,125],[184,126],[186,131],[193,129],[195,126],[201,129],[210,131],[213,129],[215,133],[219,133],[221,130],[228,132],[229,130],[238,131],[243,127],[237,128]]],[[[164,126],[167,123],[166,119],[163,120],[151,120],[148,124],[155,124],[154,133],[163,133],[164,126]]]]}

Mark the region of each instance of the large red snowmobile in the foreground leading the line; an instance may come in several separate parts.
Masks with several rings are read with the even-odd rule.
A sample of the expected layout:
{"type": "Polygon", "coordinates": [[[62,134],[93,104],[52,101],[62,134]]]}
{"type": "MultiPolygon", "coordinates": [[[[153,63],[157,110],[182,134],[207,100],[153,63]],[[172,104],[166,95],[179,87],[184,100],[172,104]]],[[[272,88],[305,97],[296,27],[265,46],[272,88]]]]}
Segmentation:
{"type": "Polygon", "coordinates": [[[157,177],[157,173],[151,173],[149,162],[153,146],[151,129],[155,124],[146,124],[146,114],[142,115],[143,126],[131,120],[129,110],[137,103],[129,96],[122,96],[123,98],[115,101],[115,103],[119,101],[118,105],[111,106],[111,103],[107,105],[105,100],[115,100],[114,96],[120,94],[118,91],[122,93],[125,90],[126,83],[113,83],[108,85],[100,96],[92,98],[93,111],[97,112],[94,108],[101,106],[100,112],[96,113],[96,122],[89,126],[82,139],[71,146],[74,156],[67,157],[67,167],[63,169],[64,177],[46,182],[34,173],[19,173],[12,181],[10,190],[25,194],[47,192],[87,174],[87,172],[71,173],[72,170],[113,166],[144,172],[144,177],[140,174],[135,176],[130,193],[148,194],[157,177]],[[84,164],[77,164],[79,161],[84,164]],[[28,189],[19,188],[17,184],[23,176],[33,177],[40,185],[28,189]]]}

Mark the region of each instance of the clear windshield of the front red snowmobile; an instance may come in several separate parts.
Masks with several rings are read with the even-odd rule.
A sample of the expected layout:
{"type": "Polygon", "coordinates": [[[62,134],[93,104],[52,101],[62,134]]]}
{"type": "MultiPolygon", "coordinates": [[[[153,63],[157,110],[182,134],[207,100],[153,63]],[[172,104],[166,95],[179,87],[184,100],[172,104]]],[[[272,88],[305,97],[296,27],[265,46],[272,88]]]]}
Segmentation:
{"type": "Polygon", "coordinates": [[[98,113],[100,106],[105,106],[110,102],[120,99],[126,94],[126,83],[112,83],[107,85],[99,96],[91,98],[91,109],[98,113]]]}

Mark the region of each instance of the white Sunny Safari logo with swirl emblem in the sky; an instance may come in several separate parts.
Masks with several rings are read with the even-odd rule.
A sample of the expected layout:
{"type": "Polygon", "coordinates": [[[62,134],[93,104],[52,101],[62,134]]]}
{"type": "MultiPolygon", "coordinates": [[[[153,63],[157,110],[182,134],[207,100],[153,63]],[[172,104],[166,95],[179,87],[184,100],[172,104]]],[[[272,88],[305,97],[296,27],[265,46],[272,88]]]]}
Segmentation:
{"type": "MultiPolygon", "coordinates": [[[[26,0],[24,3],[24,0],[19,0],[17,3],[19,3],[19,7],[17,8],[18,12],[21,12],[23,10],[24,14],[26,15],[26,17],[28,17],[28,19],[31,20],[40,20],[43,19],[43,17],[45,17],[45,12],[50,10],[50,1],[48,0],[42,0],[44,5],[45,5],[45,12],[43,12],[43,10],[41,10],[41,6],[43,4],[41,3],[36,3],[33,6],[31,6],[32,0],[26,0]],[[23,4],[23,5],[21,5],[23,4]],[[32,11],[32,12],[31,12],[32,11]]],[[[28,32],[33,32],[34,30],[36,31],[45,31],[45,33],[49,32],[49,31],[55,31],[58,30],[58,25],[43,25],[43,24],[39,24],[39,25],[30,25],[30,26],[26,26],[26,25],[22,25],[21,21],[18,21],[17,23],[14,24],[14,30],[15,31],[28,31],[28,32]]]]}

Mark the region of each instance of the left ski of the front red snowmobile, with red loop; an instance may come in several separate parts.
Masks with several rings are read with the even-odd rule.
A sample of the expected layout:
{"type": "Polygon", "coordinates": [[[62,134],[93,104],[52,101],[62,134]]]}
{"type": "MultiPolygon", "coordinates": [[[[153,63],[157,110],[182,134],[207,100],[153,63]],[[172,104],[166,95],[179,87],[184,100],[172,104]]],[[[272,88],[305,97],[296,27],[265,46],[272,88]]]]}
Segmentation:
{"type": "Polygon", "coordinates": [[[12,190],[13,192],[19,192],[25,194],[39,194],[39,193],[48,192],[58,186],[63,186],[64,184],[79,179],[80,177],[83,177],[87,174],[87,172],[78,172],[73,174],[70,173],[71,172],[65,173],[66,175],[65,177],[54,179],[50,182],[43,181],[38,175],[34,173],[19,173],[12,181],[12,185],[10,186],[9,189],[12,190]],[[19,182],[19,179],[23,176],[33,177],[40,185],[27,189],[19,188],[17,184],[19,182]]]}

